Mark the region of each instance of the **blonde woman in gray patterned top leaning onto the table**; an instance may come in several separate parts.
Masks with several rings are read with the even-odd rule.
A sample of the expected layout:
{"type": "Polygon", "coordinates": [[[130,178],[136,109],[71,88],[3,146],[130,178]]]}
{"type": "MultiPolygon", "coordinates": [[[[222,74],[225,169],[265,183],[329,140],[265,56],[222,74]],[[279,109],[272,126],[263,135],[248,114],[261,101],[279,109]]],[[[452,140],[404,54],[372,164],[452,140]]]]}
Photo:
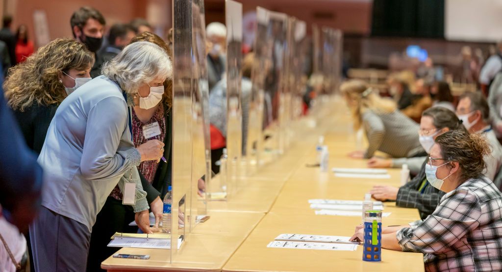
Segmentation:
{"type": "Polygon", "coordinates": [[[371,158],[377,150],[394,158],[426,155],[418,141],[419,125],[402,114],[394,101],[381,98],[361,80],[350,80],[341,90],[355,130],[363,127],[369,142],[365,151],[353,151],[350,157],[371,158]]]}

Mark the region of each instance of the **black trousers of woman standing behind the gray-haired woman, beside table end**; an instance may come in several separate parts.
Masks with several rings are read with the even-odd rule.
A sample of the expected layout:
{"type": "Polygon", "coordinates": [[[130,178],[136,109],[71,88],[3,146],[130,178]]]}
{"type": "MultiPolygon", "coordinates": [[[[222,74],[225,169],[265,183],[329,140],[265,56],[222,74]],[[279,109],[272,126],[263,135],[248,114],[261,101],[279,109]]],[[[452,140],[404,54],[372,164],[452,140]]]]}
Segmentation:
{"type": "Polygon", "coordinates": [[[122,205],[122,201],[108,197],[97,215],[96,223],[92,227],[89,257],[87,258],[87,271],[105,271],[101,269],[101,262],[113,253],[118,247],[107,247],[110,237],[115,232],[136,233],[137,226],[129,226],[134,221],[134,210],[129,205],[122,205]]]}

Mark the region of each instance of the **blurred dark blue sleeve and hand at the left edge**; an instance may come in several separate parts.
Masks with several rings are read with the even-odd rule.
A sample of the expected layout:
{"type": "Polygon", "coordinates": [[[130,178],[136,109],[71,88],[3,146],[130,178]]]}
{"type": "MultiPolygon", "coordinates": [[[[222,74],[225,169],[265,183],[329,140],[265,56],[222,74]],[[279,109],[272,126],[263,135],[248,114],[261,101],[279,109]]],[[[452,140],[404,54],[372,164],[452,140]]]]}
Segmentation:
{"type": "MultiPolygon", "coordinates": [[[[3,93],[0,86],[0,92],[3,93]]],[[[21,131],[0,95],[0,204],[7,220],[22,230],[40,208],[42,167],[21,139],[21,131]]]]}

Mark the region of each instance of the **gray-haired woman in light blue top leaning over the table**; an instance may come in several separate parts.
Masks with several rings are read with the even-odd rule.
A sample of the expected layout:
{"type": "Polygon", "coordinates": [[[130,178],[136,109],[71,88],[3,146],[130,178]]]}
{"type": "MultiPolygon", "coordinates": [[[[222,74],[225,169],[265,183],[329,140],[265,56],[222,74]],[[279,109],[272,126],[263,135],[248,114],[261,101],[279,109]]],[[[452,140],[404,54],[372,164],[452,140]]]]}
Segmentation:
{"type": "Polygon", "coordinates": [[[159,160],[164,143],[150,140],[135,148],[131,106],[149,109],[158,104],[163,82],[171,76],[164,50],[138,42],[61,103],[38,159],[47,176],[43,207],[30,227],[37,270],[85,271],[96,215],[117,184],[123,204],[134,207],[138,226],[151,233],[137,166],[159,160]]]}

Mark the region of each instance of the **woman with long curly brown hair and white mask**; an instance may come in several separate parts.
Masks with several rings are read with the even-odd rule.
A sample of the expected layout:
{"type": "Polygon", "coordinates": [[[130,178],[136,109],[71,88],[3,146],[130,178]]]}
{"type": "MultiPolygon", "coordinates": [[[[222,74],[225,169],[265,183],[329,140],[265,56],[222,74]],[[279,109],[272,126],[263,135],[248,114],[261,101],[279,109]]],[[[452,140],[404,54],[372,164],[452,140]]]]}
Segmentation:
{"type": "Polygon", "coordinates": [[[73,39],[56,39],[14,66],[4,83],[8,105],[37,154],[59,104],[90,79],[94,55],[73,39]]]}

